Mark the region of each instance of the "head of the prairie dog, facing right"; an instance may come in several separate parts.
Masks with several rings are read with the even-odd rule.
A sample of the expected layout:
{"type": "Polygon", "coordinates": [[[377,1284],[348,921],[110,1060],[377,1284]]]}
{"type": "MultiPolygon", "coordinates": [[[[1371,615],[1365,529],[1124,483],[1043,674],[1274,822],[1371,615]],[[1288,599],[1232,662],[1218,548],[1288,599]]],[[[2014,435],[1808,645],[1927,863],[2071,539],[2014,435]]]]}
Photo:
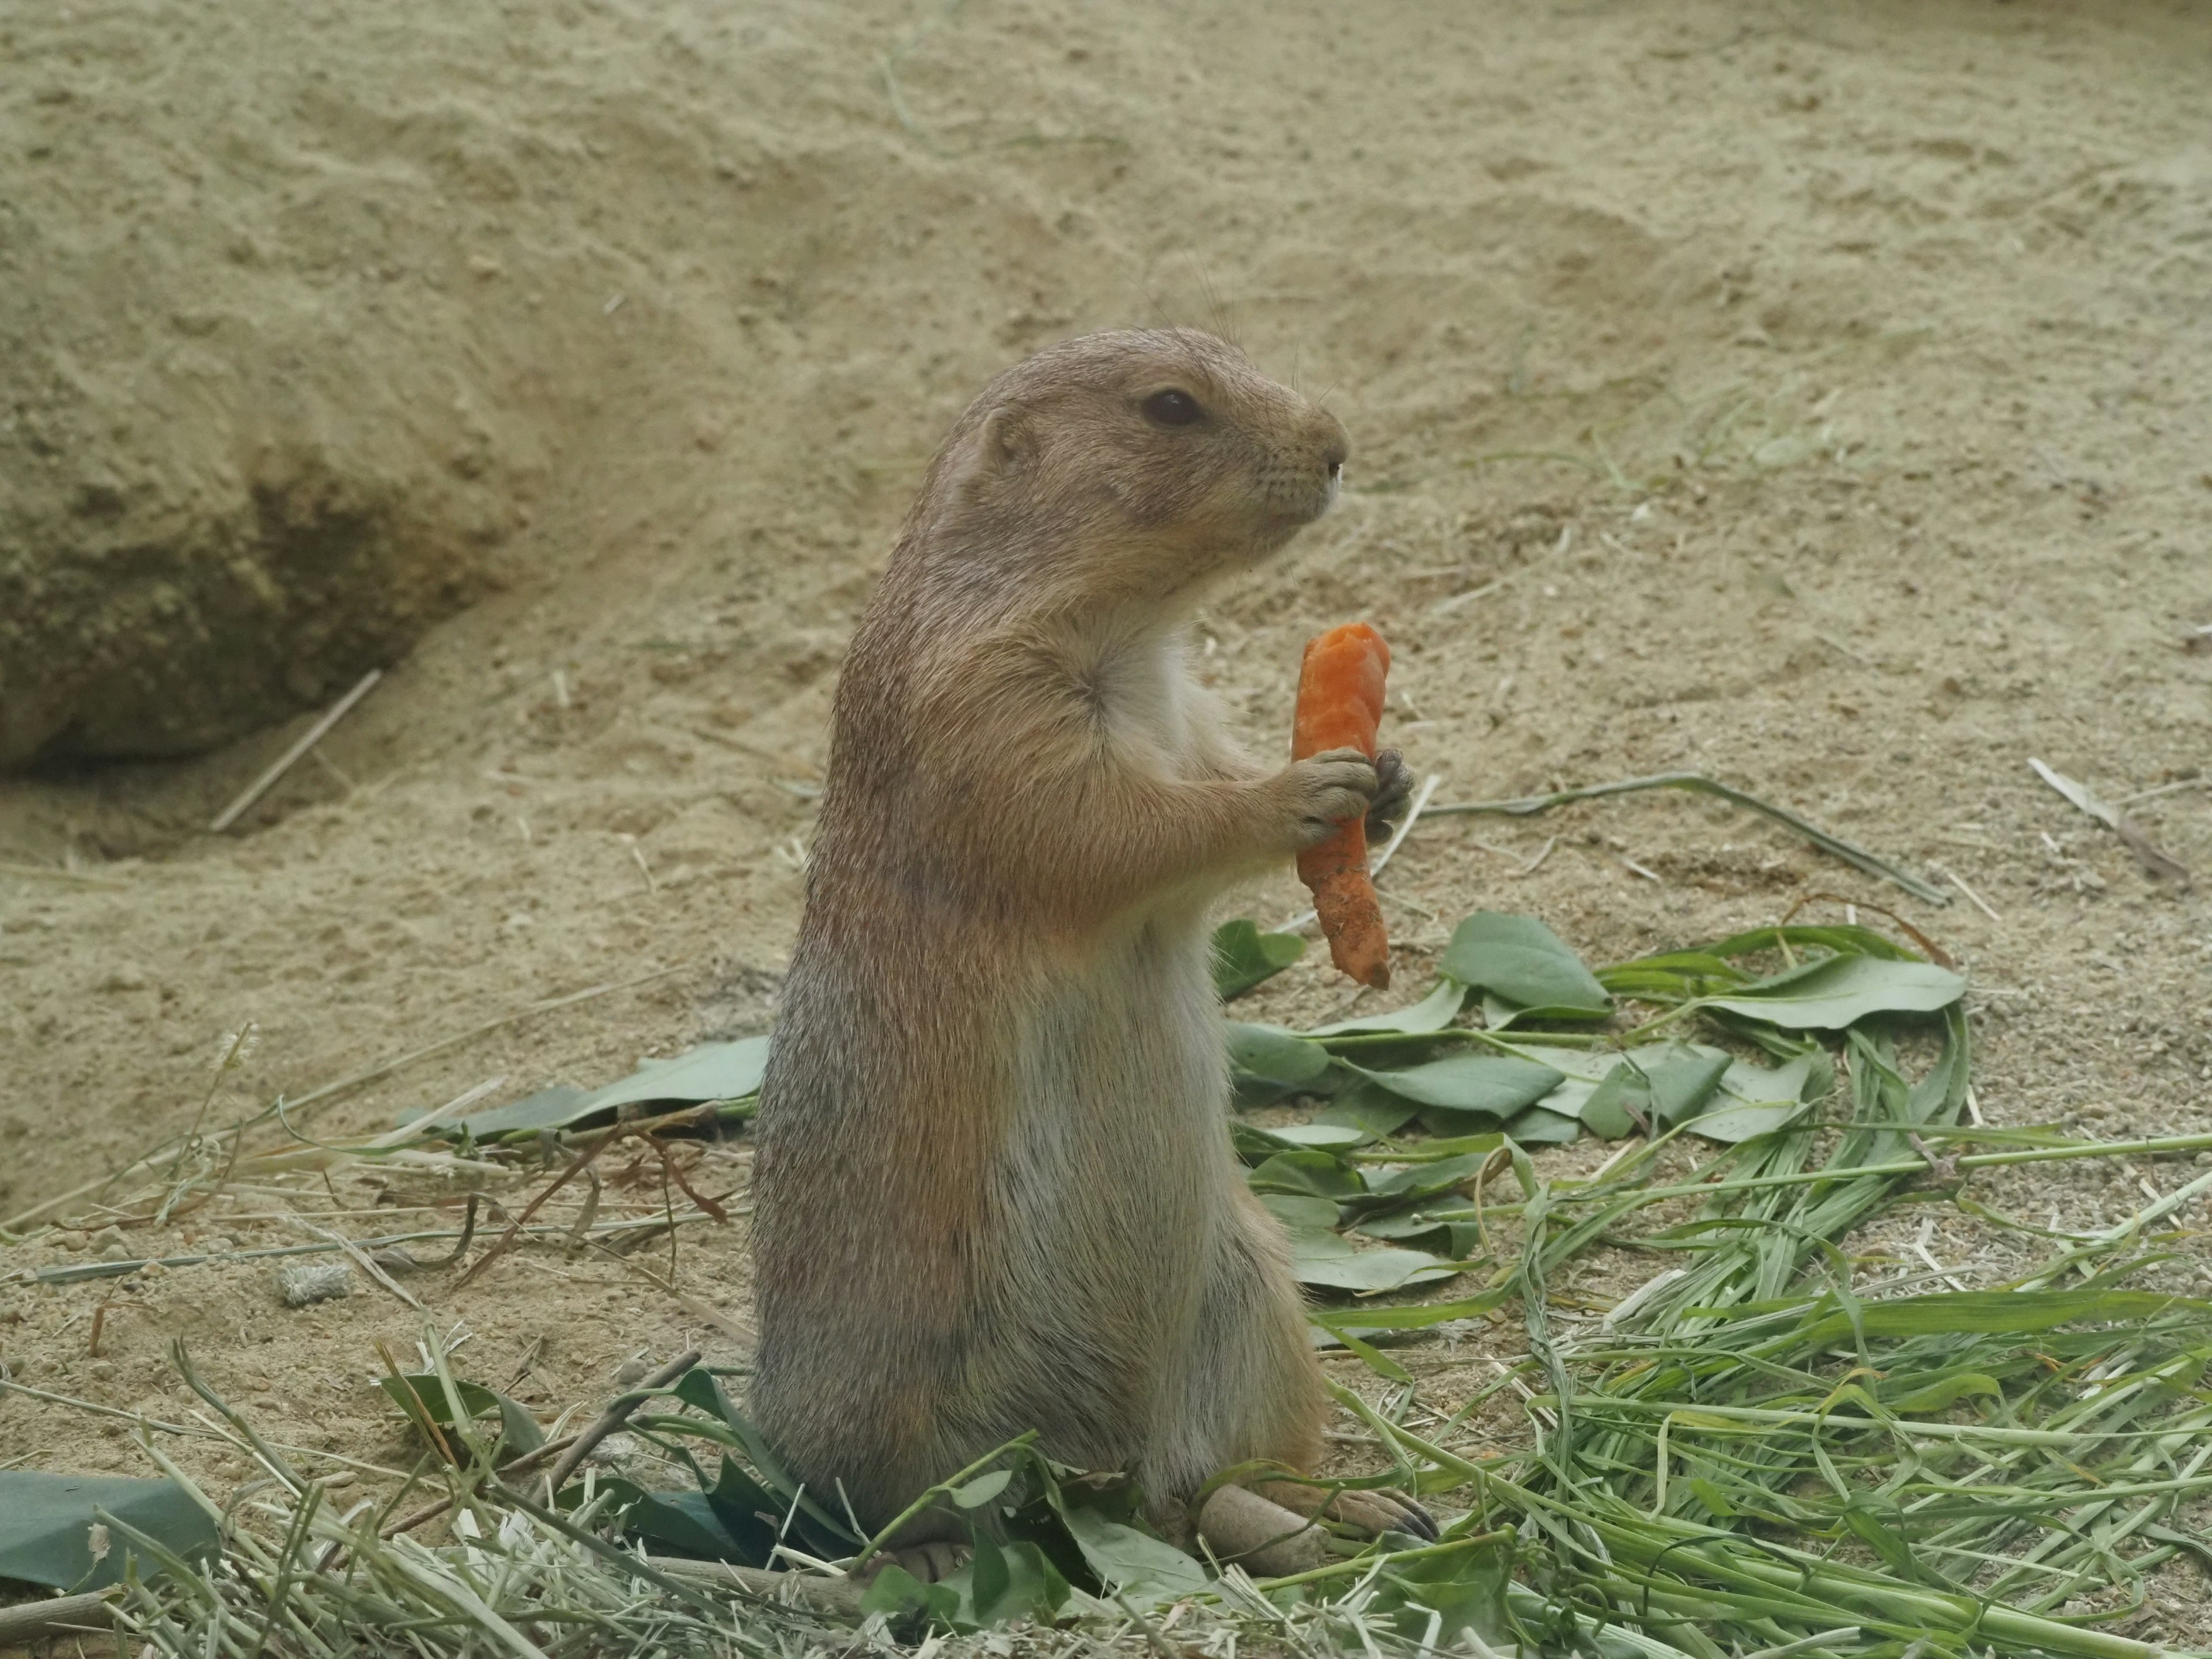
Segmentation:
{"type": "Polygon", "coordinates": [[[909,529],[949,575],[1181,608],[1321,518],[1347,451],[1336,416],[1212,334],[1084,334],[984,387],[909,529]]]}

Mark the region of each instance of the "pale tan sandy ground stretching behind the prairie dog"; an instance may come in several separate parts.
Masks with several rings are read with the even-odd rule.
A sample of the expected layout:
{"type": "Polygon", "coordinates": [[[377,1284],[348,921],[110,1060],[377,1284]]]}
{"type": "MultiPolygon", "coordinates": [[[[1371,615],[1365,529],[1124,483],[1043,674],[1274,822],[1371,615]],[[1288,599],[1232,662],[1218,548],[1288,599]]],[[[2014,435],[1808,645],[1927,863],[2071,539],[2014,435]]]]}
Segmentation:
{"type": "MultiPolygon", "coordinates": [[[[44,122],[40,166],[77,181],[49,197],[53,237],[153,179],[144,212],[208,204],[323,307],[327,403],[354,376],[405,398],[447,376],[487,411],[471,478],[509,491],[504,591],[394,661],[330,765],[228,836],[201,825],[305,719],[199,761],[0,781],[7,1217],[192,1121],[243,1024],[210,1121],[661,975],[409,1064],[310,1133],[765,1029],[827,692],[929,449],[995,367],[1130,321],[1232,330],[1354,436],[1340,511],[1201,619],[1256,745],[1281,745],[1303,637],[1371,615],[1396,741],[1440,801],[1694,768],[1960,891],[1920,905],[1686,796],[1438,821],[1385,878],[1407,980],[1475,907],[1617,960],[1807,891],[1891,902],[1973,971],[1993,1121],[2212,1128],[2205,900],[2028,768],[2110,799],[2177,785],[2130,812],[2212,883],[2212,648],[2185,648],[2212,624],[2201,11],[184,15],[0,22],[27,66],[0,122],[44,122]],[[53,84],[73,91],[35,102],[53,84]]],[[[170,263],[188,301],[232,281],[212,252],[170,263]]],[[[327,453],[343,469],[343,431],[327,453]]],[[[1245,909],[1276,920],[1298,891],[1285,874],[1245,909]]],[[[1340,1004],[1314,964],[1256,1000],[1340,1004]]],[[[703,1190],[741,1186],[741,1141],[697,1157],[703,1190]]],[[[661,1206],[657,1168],[630,1179],[606,1214],[661,1206]]],[[[1978,1190],[2088,1221],[2143,1179],[2174,1177],[1978,1190]]],[[[292,1208],[394,1230],[458,1186],[239,1192],[148,1248],[299,1241],[292,1208]]],[[[84,1225],[0,1265],[148,1241],[64,1214],[84,1225]]],[[[1971,1274],[1986,1243],[1958,1219],[1936,1248],[1971,1274]]],[[[664,1250],[639,1261],[666,1272],[664,1250]]],[[[551,1250],[407,1285],[471,1334],[473,1376],[553,1409],[637,1354],[737,1356],[741,1217],[688,1228],[677,1274],[688,1303],[551,1250]]],[[[184,1420],[161,1358],[184,1336],[274,1433],[385,1467],[407,1451],[372,1345],[411,1354],[420,1323],[365,1283],[288,1312],[259,1261],[0,1285],[0,1356],[31,1385],[184,1420]]],[[[1436,1376],[1449,1407],[1467,1374],[1436,1376]]],[[[135,1467],[119,1420],[24,1396],[0,1400],[11,1458],[135,1467]]]]}

